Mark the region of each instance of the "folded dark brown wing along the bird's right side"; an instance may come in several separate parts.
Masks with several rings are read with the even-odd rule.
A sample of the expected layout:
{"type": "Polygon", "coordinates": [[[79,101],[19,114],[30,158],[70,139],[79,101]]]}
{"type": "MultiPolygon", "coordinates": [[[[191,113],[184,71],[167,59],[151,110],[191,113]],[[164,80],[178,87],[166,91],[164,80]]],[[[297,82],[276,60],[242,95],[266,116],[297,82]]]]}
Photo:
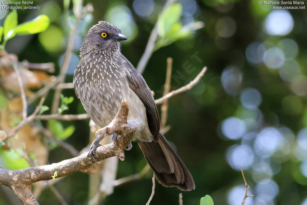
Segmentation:
{"type": "Polygon", "coordinates": [[[126,65],[130,67],[130,75],[126,76],[129,86],[144,104],[146,108],[149,130],[153,135],[153,140],[158,141],[160,132],[160,118],[151,90],[149,89],[142,75],[138,73],[138,71],[127,60],[126,57],[123,55],[122,57],[126,65]]]}

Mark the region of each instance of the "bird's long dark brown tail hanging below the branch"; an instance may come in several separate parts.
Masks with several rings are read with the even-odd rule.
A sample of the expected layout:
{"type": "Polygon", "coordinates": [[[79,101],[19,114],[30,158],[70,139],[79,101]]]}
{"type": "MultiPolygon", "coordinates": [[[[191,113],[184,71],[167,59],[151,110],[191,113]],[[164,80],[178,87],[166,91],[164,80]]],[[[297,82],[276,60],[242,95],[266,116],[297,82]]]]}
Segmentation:
{"type": "Polygon", "coordinates": [[[191,173],[161,132],[157,142],[137,142],[159,183],[182,191],[195,189],[191,173]]]}

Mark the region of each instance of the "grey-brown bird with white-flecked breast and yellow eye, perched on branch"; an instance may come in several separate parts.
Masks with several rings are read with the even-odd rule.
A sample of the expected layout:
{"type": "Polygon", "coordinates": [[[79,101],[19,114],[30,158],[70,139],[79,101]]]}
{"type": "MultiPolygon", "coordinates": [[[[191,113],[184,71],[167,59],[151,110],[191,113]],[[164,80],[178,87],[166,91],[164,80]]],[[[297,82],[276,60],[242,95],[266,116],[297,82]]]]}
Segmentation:
{"type": "MultiPolygon", "coordinates": [[[[76,96],[95,124],[105,127],[116,116],[123,99],[129,103],[128,119],[136,125],[136,139],[148,164],[164,187],[182,191],[195,189],[193,177],[160,132],[160,118],[146,81],[121,53],[120,41],[127,40],[113,24],[99,21],[84,37],[73,85],[76,96]]],[[[113,141],[117,135],[113,134],[113,141]]],[[[98,139],[98,138],[97,138],[98,139]]],[[[101,146],[94,140],[91,148],[101,146]]],[[[95,160],[95,149],[88,157],[95,160]]]]}

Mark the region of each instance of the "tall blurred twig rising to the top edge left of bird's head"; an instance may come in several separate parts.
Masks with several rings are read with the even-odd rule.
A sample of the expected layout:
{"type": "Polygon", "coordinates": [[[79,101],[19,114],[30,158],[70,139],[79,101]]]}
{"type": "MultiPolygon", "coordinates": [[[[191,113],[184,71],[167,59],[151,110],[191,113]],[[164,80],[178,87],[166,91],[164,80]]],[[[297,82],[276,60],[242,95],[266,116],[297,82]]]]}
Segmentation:
{"type": "MultiPolygon", "coordinates": [[[[82,0],[80,0],[79,3],[82,5],[82,0]]],[[[81,9],[81,6],[79,6],[78,8],[81,9]]],[[[73,46],[74,46],[76,30],[77,30],[77,27],[78,27],[79,20],[81,18],[80,13],[81,13],[81,10],[78,10],[78,11],[76,11],[76,14],[75,14],[75,16],[76,16],[75,25],[73,26],[73,28],[70,32],[68,44],[67,44],[66,51],[65,51],[65,54],[64,54],[64,60],[63,60],[62,66],[60,68],[60,75],[58,76],[59,79],[60,79],[60,83],[63,83],[65,81],[66,71],[68,69],[68,63],[70,61],[72,49],[73,49],[73,46]]],[[[58,110],[61,92],[62,92],[62,89],[60,89],[58,87],[56,88],[56,90],[54,92],[54,97],[53,97],[52,107],[51,107],[51,113],[52,114],[55,114],[58,110]]]]}

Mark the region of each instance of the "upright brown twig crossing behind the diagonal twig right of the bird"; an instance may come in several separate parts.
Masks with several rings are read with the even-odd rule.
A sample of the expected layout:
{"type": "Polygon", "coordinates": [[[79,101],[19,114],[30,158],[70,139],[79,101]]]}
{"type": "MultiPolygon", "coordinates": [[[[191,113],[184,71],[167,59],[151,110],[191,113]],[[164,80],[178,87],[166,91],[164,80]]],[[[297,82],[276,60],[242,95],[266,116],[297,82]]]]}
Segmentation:
{"type": "MultiPolygon", "coordinates": [[[[169,91],[171,89],[171,76],[172,76],[173,58],[168,57],[166,59],[166,62],[167,62],[167,68],[166,68],[166,77],[165,77],[163,96],[165,96],[167,93],[169,93],[169,91]]],[[[168,100],[165,100],[162,103],[162,106],[161,106],[161,128],[163,128],[166,125],[168,107],[169,107],[168,100]]]]}

